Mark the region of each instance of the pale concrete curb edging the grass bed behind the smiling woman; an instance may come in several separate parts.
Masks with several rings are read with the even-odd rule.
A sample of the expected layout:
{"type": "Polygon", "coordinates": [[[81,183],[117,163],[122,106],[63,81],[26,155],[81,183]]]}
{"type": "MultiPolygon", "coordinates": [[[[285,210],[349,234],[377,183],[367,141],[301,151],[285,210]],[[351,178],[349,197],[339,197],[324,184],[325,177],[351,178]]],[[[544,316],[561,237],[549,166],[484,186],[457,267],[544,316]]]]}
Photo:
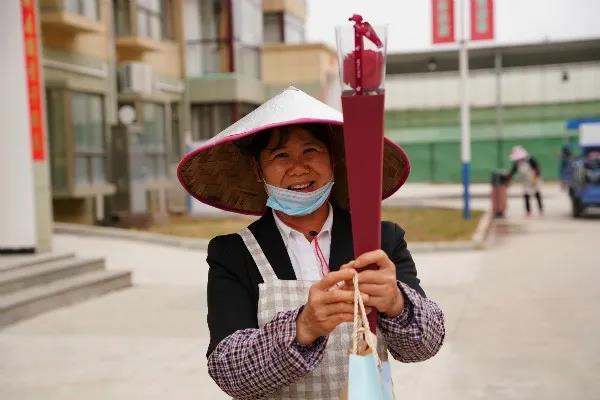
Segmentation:
{"type": "MultiPolygon", "coordinates": [[[[492,226],[493,220],[491,211],[486,211],[479,220],[479,224],[477,225],[471,240],[453,242],[415,242],[409,245],[409,249],[412,253],[482,249],[484,248],[484,241],[492,226]]],[[[55,222],[53,230],[54,233],[124,239],[190,250],[206,251],[209,242],[208,239],[184,238],[161,233],[140,232],[130,229],[103,226],[67,224],[62,222],[55,222]]]]}

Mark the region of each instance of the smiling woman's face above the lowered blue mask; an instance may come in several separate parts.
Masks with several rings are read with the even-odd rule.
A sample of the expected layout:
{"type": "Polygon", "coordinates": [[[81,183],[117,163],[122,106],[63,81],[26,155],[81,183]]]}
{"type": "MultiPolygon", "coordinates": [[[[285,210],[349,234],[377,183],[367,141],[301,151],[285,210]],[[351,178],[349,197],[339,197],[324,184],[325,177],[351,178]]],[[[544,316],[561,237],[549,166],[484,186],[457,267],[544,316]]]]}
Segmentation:
{"type": "Polygon", "coordinates": [[[329,150],[304,128],[289,128],[286,140],[279,143],[279,132],[271,135],[260,152],[262,177],[273,186],[299,192],[312,192],[333,179],[329,150]]]}

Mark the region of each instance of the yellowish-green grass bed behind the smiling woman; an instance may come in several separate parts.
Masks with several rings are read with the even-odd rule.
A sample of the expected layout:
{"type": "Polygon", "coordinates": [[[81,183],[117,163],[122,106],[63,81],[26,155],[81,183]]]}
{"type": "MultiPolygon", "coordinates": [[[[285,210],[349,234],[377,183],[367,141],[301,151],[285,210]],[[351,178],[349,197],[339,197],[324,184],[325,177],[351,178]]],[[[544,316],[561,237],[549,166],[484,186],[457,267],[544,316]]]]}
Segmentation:
{"type": "MultiPolygon", "coordinates": [[[[481,215],[473,211],[469,221],[463,221],[462,210],[422,207],[384,207],[382,219],[398,223],[406,231],[408,242],[468,240],[481,215]]],[[[150,232],[166,235],[206,238],[238,232],[251,223],[252,217],[206,218],[171,216],[165,224],[155,225],[150,232]]]]}

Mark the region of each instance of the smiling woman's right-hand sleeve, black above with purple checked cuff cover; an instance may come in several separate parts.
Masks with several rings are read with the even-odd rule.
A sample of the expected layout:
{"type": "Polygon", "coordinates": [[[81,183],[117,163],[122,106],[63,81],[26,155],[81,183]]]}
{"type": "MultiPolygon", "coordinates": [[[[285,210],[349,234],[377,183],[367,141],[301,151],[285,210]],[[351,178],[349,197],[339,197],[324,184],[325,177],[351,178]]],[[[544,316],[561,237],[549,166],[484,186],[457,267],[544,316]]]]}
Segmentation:
{"type": "Polygon", "coordinates": [[[404,231],[394,224],[393,235],[396,245],[388,256],[396,265],[398,287],[404,296],[405,307],[395,318],[379,314],[378,326],[392,357],[401,362],[424,361],[433,357],[442,346],[444,314],[434,301],[425,297],[404,240],[404,231]]]}

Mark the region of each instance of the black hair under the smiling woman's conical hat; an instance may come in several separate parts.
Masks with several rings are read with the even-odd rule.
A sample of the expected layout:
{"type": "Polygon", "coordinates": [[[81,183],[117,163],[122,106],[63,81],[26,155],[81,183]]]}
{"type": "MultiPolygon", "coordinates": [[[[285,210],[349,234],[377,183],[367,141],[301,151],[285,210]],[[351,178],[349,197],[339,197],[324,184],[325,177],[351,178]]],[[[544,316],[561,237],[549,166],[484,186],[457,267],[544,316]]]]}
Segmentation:
{"type": "Polygon", "coordinates": [[[331,154],[331,138],[329,136],[330,127],[325,124],[297,124],[270,128],[252,136],[251,138],[237,140],[235,145],[240,149],[242,154],[249,155],[256,161],[259,161],[260,152],[267,148],[269,140],[271,140],[271,135],[273,135],[275,132],[279,132],[279,140],[275,145],[275,148],[278,148],[283,146],[288,141],[292,127],[306,129],[315,137],[315,139],[325,144],[327,151],[331,154]]]}

